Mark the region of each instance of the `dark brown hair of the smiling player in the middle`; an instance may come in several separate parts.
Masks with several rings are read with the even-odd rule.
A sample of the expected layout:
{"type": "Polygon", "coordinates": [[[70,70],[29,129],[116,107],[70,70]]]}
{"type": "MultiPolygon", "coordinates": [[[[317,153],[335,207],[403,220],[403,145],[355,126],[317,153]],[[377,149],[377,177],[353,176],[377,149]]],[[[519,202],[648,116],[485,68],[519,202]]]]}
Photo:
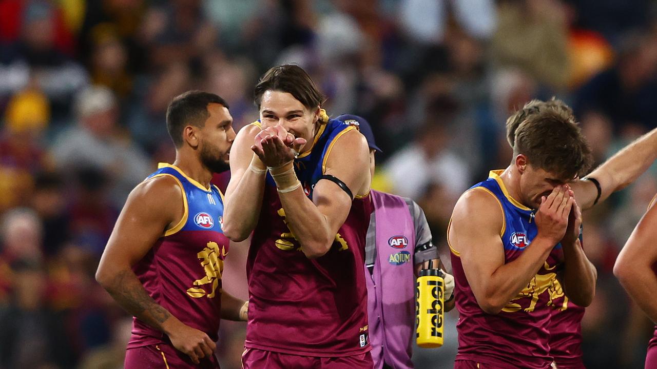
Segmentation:
{"type": "Polygon", "coordinates": [[[290,93],[310,109],[321,106],[326,100],[306,71],[294,64],[275,66],[260,78],[254,91],[254,102],[258,109],[262,95],[269,90],[290,93]]]}

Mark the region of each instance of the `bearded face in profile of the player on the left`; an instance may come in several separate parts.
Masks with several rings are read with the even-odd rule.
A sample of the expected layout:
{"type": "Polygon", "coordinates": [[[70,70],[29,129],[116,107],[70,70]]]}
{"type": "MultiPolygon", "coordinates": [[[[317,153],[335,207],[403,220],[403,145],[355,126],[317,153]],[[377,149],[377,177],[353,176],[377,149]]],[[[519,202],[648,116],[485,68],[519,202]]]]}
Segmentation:
{"type": "Polygon", "coordinates": [[[231,146],[235,140],[233,117],[221,104],[208,104],[208,119],[198,129],[200,160],[213,173],[229,169],[231,146]]]}

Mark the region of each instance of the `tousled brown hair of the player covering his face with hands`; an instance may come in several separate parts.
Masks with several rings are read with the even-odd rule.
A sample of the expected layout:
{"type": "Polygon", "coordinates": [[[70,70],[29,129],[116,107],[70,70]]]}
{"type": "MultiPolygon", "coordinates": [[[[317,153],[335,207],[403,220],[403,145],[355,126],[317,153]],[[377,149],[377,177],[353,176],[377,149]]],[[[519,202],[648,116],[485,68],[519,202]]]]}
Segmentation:
{"type": "Polygon", "coordinates": [[[524,154],[533,167],[564,181],[591,169],[591,148],[572,114],[545,109],[527,116],[515,131],[514,156],[524,154]]]}

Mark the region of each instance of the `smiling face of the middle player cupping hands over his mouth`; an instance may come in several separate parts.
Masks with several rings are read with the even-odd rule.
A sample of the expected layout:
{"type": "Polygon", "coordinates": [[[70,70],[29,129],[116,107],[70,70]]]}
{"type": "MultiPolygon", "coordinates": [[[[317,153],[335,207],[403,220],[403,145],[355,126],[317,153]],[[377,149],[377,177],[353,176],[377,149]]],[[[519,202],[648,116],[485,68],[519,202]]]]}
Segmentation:
{"type": "Polygon", "coordinates": [[[302,152],[306,152],[312,146],[315,123],[318,119],[319,106],[314,109],[307,108],[290,93],[267,90],[262,95],[260,102],[262,128],[281,125],[294,137],[306,139],[308,143],[302,148],[302,152]]]}

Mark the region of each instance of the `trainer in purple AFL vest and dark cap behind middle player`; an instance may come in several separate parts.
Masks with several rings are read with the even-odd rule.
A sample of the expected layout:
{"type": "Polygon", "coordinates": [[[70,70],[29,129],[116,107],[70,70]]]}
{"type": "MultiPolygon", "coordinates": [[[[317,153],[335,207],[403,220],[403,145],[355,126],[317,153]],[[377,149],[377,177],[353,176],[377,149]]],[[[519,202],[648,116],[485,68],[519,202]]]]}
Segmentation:
{"type": "MultiPolygon", "coordinates": [[[[365,119],[349,115],[336,119],[359,128],[367,139],[371,155],[380,151],[365,119]]],[[[371,170],[374,171],[373,164],[371,170]]],[[[429,225],[418,204],[376,190],[370,193],[374,211],[365,242],[365,279],[374,369],[413,368],[414,269],[424,261],[439,259],[438,248],[431,242],[429,225]]],[[[445,297],[449,299],[453,278],[447,287],[445,297]]]]}

